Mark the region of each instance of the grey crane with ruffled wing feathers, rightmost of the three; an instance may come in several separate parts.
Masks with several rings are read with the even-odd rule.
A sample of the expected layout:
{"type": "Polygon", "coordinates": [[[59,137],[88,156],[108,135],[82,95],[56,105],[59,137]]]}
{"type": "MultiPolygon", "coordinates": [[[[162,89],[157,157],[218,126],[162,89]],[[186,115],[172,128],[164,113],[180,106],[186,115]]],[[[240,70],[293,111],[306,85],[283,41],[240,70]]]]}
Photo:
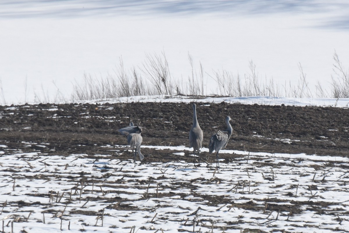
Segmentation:
{"type": "Polygon", "coordinates": [[[231,120],[230,116],[227,116],[225,118],[225,123],[227,124],[226,130],[218,130],[217,133],[213,134],[210,143],[208,145],[209,153],[212,153],[213,151],[216,151],[216,167],[219,168],[219,161],[218,161],[218,152],[223,149],[225,146],[227,146],[229,138],[232,134],[233,128],[231,127],[229,121],[231,120]]]}

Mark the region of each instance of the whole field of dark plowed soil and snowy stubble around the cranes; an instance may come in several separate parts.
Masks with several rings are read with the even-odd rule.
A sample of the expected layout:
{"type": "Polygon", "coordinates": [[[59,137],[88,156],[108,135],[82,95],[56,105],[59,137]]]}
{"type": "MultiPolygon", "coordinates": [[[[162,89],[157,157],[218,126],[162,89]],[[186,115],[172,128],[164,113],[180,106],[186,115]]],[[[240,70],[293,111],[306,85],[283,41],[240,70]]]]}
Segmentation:
{"type": "Polygon", "coordinates": [[[207,163],[193,166],[190,104],[0,107],[5,232],[12,221],[14,232],[348,232],[348,109],[223,102],[197,112],[206,148],[233,119],[218,170],[206,148],[207,163]],[[117,133],[130,119],[144,127],[135,168],[117,133]]]}

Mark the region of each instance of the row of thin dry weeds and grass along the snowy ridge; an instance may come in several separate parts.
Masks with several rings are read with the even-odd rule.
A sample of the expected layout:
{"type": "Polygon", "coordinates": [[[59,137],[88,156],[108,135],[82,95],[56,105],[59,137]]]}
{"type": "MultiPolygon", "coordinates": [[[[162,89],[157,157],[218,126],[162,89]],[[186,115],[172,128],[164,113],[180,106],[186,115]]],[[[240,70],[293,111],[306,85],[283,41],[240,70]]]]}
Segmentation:
{"type": "Polygon", "coordinates": [[[261,78],[256,65],[251,60],[249,71],[243,77],[231,71],[219,70],[209,74],[204,71],[201,62],[195,67],[191,54],[188,61],[191,73],[185,78],[173,78],[170,73],[165,53],[146,54],[141,67],[130,70],[124,68],[122,59],[114,74],[106,78],[84,75],[84,83],[74,84],[72,100],[113,99],[139,95],[193,95],[208,94],[240,97],[240,96],[275,96],[275,97],[349,97],[349,75],[339,60],[337,53],[333,55],[335,76],[332,77],[330,89],[324,88],[320,82],[314,88],[309,86],[306,73],[299,63],[299,79],[294,84],[285,81],[277,83],[273,78],[261,78]],[[209,80],[216,82],[216,88],[207,90],[209,80]],[[315,90],[315,93],[313,93],[315,90]]]}

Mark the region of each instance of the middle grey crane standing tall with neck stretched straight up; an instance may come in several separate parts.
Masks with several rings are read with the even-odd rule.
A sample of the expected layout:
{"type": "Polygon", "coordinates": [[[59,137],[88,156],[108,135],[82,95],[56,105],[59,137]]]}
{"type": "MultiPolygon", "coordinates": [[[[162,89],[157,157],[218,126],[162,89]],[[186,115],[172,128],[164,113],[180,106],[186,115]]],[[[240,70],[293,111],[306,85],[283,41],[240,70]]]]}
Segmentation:
{"type": "MultiPolygon", "coordinates": [[[[198,153],[200,164],[200,148],[202,148],[203,133],[196,117],[196,104],[193,103],[193,126],[189,132],[189,148],[193,147],[194,155],[198,153]]],[[[195,158],[194,158],[195,165],[195,158]]]]}

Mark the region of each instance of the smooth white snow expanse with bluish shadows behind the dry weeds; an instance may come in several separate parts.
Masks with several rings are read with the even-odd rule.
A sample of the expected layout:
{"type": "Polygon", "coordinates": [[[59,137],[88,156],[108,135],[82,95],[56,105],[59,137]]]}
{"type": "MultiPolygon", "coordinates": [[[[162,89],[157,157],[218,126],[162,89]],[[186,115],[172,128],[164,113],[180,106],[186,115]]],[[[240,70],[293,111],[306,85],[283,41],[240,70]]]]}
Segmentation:
{"type": "Polygon", "coordinates": [[[1,0],[1,104],[54,100],[58,90],[69,100],[85,73],[107,77],[120,57],[131,69],[162,52],[184,80],[188,52],[210,75],[244,77],[252,60],[259,78],[279,85],[297,85],[300,63],[314,92],[317,81],[329,85],[335,50],[348,67],[348,22],[344,0],[1,0]]]}

